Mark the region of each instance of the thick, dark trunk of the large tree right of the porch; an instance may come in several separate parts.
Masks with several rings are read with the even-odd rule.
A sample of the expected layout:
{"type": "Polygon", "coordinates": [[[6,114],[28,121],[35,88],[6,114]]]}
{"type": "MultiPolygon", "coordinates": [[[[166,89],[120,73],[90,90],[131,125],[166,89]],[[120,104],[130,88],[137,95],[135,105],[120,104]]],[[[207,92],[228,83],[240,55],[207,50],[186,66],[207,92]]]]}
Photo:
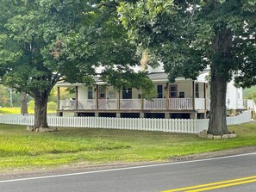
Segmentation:
{"type": "Polygon", "coordinates": [[[210,79],[210,113],[208,133],[223,135],[228,133],[226,120],[227,84],[232,77],[228,65],[232,64],[232,38],[229,28],[218,28],[212,42],[210,79]]]}

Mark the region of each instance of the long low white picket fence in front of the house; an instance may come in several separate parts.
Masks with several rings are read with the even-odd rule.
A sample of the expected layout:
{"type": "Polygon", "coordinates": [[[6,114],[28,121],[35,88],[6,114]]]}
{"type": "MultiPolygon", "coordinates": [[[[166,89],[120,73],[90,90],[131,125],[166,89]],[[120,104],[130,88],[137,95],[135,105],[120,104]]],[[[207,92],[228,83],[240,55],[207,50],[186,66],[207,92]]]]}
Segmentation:
{"type": "MultiPolygon", "coordinates": [[[[235,125],[251,121],[251,111],[228,117],[228,125],[235,125]]],[[[47,116],[50,127],[91,127],[128,129],[143,131],[162,131],[171,133],[199,133],[208,128],[209,119],[144,119],[144,118],[110,118],[110,117],[72,117],[47,116]]],[[[0,115],[0,123],[13,125],[34,125],[34,115],[0,115]]]]}

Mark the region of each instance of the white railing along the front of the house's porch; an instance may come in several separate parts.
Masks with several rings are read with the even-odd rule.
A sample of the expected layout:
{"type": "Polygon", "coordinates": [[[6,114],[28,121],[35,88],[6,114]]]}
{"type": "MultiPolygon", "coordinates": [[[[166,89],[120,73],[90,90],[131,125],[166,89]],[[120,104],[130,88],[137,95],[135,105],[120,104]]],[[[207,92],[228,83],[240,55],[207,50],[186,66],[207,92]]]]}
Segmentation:
{"type": "MultiPolygon", "coordinates": [[[[174,110],[192,110],[193,109],[193,99],[192,98],[169,98],[169,105],[167,106],[165,98],[156,98],[153,100],[143,101],[141,99],[120,99],[120,109],[128,109],[141,110],[142,107],[144,110],[154,110],[154,109],[174,109],[174,110]]],[[[73,109],[101,109],[101,110],[109,110],[109,109],[118,109],[117,99],[99,99],[98,102],[95,99],[87,99],[87,100],[60,100],[59,101],[59,109],[60,110],[73,110],[73,109]]],[[[209,108],[209,101],[206,101],[204,98],[196,98],[195,99],[195,109],[205,109],[209,108]]]]}

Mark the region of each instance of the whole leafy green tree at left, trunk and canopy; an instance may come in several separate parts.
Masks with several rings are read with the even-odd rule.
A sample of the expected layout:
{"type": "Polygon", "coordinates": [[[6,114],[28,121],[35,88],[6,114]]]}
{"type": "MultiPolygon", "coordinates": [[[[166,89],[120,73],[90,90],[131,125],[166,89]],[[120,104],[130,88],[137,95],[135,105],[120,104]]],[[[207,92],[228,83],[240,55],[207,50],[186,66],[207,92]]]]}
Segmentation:
{"type": "Polygon", "coordinates": [[[138,64],[135,46],[126,40],[111,3],[1,2],[1,83],[34,98],[34,130],[48,127],[48,96],[60,80],[89,84],[97,66],[126,72],[128,65],[138,64]]]}

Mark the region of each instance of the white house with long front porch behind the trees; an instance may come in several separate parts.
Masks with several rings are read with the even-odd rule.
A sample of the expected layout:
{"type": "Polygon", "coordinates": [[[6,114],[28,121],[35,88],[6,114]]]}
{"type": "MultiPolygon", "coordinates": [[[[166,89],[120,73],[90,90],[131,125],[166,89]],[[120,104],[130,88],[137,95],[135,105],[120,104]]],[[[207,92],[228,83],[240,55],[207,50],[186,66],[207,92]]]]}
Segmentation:
{"type": "MultiPolygon", "coordinates": [[[[114,90],[112,86],[106,87],[100,80],[96,80],[96,84],[91,86],[59,83],[58,92],[62,86],[75,87],[76,91],[72,100],[59,99],[58,114],[184,119],[207,117],[210,98],[206,76],[209,71],[203,71],[196,81],[178,77],[173,84],[168,83],[161,65],[156,69],[149,67],[148,71],[158,93],[157,98],[152,101],[142,98],[140,90],[114,90]]],[[[228,84],[227,107],[244,109],[242,90],[235,88],[232,82],[228,84]]]]}

